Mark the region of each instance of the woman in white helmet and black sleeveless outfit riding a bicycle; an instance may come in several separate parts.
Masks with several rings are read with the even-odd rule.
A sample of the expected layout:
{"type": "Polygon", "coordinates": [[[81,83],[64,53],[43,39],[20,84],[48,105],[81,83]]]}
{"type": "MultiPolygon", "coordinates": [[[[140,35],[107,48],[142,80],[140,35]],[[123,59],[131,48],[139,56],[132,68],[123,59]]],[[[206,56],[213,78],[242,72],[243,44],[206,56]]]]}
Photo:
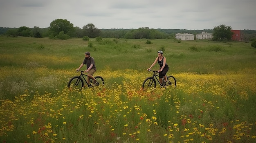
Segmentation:
{"type": "Polygon", "coordinates": [[[150,70],[158,62],[158,64],[160,65],[160,68],[158,70],[159,81],[161,84],[166,84],[166,81],[167,81],[166,73],[168,72],[169,67],[166,64],[166,58],[163,56],[164,52],[158,51],[157,53],[158,53],[158,57],[155,59],[155,62],[150,66],[150,68],[148,68],[147,70],[150,70]],[[164,81],[162,81],[163,77],[164,77],[164,81]]]}

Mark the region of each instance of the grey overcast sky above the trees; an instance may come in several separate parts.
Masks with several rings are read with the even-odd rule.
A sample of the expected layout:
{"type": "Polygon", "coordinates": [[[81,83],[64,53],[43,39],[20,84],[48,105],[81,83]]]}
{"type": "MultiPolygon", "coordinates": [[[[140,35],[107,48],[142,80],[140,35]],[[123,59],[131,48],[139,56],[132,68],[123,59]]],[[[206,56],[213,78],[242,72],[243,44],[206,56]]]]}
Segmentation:
{"type": "Polygon", "coordinates": [[[0,0],[1,27],[47,28],[56,19],[98,29],[256,30],[256,0],[0,0]]]}

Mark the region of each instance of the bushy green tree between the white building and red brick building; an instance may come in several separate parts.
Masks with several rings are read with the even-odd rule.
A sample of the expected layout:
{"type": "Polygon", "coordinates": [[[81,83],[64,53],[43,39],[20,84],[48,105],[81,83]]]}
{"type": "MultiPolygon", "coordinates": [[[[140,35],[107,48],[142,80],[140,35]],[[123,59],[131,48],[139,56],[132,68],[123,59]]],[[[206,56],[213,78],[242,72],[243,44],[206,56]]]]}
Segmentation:
{"type": "Polygon", "coordinates": [[[225,24],[213,28],[213,40],[231,40],[233,34],[231,26],[225,24]]]}

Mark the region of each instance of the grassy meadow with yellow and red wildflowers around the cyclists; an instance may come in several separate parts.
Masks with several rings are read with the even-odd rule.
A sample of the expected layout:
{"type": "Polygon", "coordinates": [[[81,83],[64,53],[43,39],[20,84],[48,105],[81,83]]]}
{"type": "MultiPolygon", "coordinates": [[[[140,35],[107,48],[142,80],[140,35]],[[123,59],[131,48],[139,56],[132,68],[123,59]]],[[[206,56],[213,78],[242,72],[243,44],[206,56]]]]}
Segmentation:
{"type": "Polygon", "coordinates": [[[150,41],[0,37],[0,143],[256,142],[250,43],[150,41]],[[160,49],[177,87],[143,91],[160,49]],[[105,86],[70,90],[85,51],[105,86]]]}

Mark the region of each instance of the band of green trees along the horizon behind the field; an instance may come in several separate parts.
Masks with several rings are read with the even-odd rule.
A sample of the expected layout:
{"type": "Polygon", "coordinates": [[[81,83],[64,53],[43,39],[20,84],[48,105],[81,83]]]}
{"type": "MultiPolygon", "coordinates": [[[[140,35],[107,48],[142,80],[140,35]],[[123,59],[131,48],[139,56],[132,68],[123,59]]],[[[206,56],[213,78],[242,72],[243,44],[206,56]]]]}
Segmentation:
{"type": "MultiPolygon", "coordinates": [[[[177,33],[191,33],[196,36],[198,33],[213,33],[213,40],[231,40],[233,33],[231,26],[225,24],[204,30],[187,29],[149,29],[141,27],[138,29],[98,29],[94,24],[87,24],[83,28],[74,27],[68,20],[56,19],[51,22],[48,28],[29,28],[21,26],[19,28],[0,27],[0,35],[9,37],[49,37],[50,39],[67,40],[72,37],[103,37],[103,38],[125,38],[125,39],[175,39],[177,33]]],[[[256,30],[241,30],[243,37],[247,40],[256,40],[256,30]]]]}

